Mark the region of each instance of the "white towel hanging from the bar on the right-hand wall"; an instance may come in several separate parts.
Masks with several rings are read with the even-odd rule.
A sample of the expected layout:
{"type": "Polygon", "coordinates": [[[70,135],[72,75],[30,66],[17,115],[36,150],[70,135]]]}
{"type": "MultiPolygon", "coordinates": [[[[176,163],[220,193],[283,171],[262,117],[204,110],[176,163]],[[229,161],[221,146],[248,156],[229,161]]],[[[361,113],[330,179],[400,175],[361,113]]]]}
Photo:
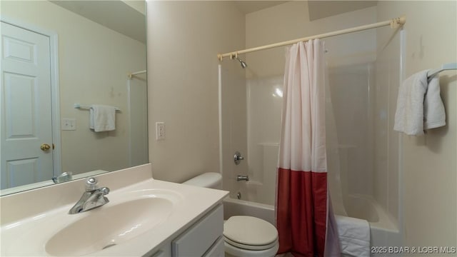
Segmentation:
{"type": "Polygon", "coordinates": [[[398,89],[393,130],[410,136],[423,135],[424,129],[446,125],[438,75],[428,81],[426,71],[413,74],[398,89]]]}

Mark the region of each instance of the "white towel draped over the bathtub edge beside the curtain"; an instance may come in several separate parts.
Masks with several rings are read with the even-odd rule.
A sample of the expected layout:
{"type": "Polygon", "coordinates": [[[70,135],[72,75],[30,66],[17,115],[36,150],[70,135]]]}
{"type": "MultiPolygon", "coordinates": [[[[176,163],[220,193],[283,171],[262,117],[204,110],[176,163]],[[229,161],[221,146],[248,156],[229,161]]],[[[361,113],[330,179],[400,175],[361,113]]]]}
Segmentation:
{"type": "Polygon", "coordinates": [[[370,256],[370,225],[368,221],[346,216],[335,216],[344,256],[370,256]]]}

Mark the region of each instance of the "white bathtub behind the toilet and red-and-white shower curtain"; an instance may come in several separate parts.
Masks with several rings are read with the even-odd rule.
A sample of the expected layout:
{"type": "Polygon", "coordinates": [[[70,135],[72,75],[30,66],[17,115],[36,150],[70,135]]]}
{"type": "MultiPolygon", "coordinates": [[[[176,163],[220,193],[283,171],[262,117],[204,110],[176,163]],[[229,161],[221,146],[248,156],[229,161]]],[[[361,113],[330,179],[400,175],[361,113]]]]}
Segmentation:
{"type": "MultiPolygon", "coordinates": [[[[362,218],[370,224],[371,246],[396,246],[392,242],[401,242],[401,234],[391,218],[370,197],[350,195],[345,208],[348,216],[362,218]]],[[[276,226],[274,206],[238,200],[227,197],[224,199],[224,219],[236,215],[247,215],[262,218],[276,226]]],[[[371,256],[382,256],[372,254],[371,256]]],[[[391,255],[394,256],[394,255],[391,255]]]]}

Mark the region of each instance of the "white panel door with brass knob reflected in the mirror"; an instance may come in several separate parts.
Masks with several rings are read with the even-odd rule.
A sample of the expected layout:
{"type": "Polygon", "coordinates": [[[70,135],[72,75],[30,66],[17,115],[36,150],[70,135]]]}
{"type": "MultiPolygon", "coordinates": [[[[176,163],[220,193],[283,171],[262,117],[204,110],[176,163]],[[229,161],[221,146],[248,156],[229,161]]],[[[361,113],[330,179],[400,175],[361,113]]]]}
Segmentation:
{"type": "Polygon", "coordinates": [[[0,44],[3,189],[51,179],[53,145],[49,37],[2,21],[0,44]]]}

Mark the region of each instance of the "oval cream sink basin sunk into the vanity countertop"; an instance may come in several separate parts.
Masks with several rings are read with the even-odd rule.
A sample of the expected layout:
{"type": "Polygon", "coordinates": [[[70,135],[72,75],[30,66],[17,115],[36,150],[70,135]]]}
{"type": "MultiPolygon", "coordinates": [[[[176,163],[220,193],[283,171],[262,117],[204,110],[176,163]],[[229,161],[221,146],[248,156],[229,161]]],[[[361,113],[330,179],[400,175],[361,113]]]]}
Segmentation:
{"type": "Polygon", "coordinates": [[[124,243],[166,221],[176,201],[171,193],[139,191],[122,201],[74,214],[81,218],[55,233],[46,243],[46,252],[84,256],[124,243]]]}

